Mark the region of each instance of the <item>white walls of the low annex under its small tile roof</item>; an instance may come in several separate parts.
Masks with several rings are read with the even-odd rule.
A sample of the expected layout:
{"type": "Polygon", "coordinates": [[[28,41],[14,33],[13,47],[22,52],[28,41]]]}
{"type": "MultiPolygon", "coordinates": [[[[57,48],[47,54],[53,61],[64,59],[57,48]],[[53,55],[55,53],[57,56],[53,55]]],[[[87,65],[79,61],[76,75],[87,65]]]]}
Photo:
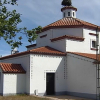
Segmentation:
{"type": "Polygon", "coordinates": [[[3,95],[25,93],[26,74],[3,74],[3,95]]]}

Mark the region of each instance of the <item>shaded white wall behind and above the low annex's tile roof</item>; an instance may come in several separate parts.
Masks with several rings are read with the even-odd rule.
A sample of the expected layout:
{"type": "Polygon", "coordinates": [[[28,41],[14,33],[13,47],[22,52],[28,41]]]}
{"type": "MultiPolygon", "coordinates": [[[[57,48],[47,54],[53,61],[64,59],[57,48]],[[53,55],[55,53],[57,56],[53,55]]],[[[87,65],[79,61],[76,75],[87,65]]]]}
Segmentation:
{"type": "Polygon", "coordinates": [[[23,55],[23,56],[18,56],[18,57],[13,57],[13,58],[7,58],[5,60],[2,60],[1,62],[5,63],[15,63],[15,64],[21,64],[22,67],[26,71],[26,87],[25,87],[25,92],[30,93],[30,55],[23,55]]]}

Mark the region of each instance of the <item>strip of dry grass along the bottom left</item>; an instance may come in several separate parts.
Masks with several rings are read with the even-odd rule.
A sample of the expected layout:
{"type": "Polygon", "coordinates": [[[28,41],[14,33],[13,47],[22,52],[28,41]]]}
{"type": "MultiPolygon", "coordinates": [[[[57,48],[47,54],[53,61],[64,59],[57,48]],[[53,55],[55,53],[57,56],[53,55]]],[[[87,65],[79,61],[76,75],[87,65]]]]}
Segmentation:
{"type": "Polygon", "coordinates": [[[0,100],[49,100],[46,98],[38,98],[34,96],[27,95],[17,95],[17,96],[0,96],[0,100]]]}

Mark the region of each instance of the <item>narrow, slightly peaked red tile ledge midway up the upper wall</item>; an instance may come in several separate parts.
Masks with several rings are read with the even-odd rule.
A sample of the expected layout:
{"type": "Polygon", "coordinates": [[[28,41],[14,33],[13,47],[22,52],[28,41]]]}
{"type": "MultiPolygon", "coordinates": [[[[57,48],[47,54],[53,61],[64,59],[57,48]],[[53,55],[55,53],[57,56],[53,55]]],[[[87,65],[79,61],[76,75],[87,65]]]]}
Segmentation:
{"type": "Polygon", "coordinates": [[[64,35],[64,36],[61,36],[61,37],[57,37],[57,38],[51,39],[51,42],[62,40],[62,39],[66,39],[66,38],[67,39],[72,39],[72,40],[84,41],[84,38],[82,38],[82,37],[64,35]]]}

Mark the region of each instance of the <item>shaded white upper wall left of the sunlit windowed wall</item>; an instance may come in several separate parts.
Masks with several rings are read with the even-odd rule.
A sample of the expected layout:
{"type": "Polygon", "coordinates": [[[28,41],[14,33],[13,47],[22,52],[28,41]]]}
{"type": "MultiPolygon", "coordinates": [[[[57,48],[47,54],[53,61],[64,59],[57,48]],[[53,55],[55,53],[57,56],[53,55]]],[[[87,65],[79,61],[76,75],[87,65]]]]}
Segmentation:
{"type": "Polygon", "coordinates": [[[83,29],[82,28],[58,28],[58,29],[47,30],[45,32],[38,34],[38,38],[36,40],[37,45],[35,47],[27,48],[27,50],[35,49],[42,46],[51,46],[54,47],[55,49],[65,52],[66,51],[65,40],[55,41],[55,42],[51,42],[50,40],[64,35],[83,37],[83,29]],[[45,34],[47,34],[46,37],[40,38],[40,36],[45,34]]]}

